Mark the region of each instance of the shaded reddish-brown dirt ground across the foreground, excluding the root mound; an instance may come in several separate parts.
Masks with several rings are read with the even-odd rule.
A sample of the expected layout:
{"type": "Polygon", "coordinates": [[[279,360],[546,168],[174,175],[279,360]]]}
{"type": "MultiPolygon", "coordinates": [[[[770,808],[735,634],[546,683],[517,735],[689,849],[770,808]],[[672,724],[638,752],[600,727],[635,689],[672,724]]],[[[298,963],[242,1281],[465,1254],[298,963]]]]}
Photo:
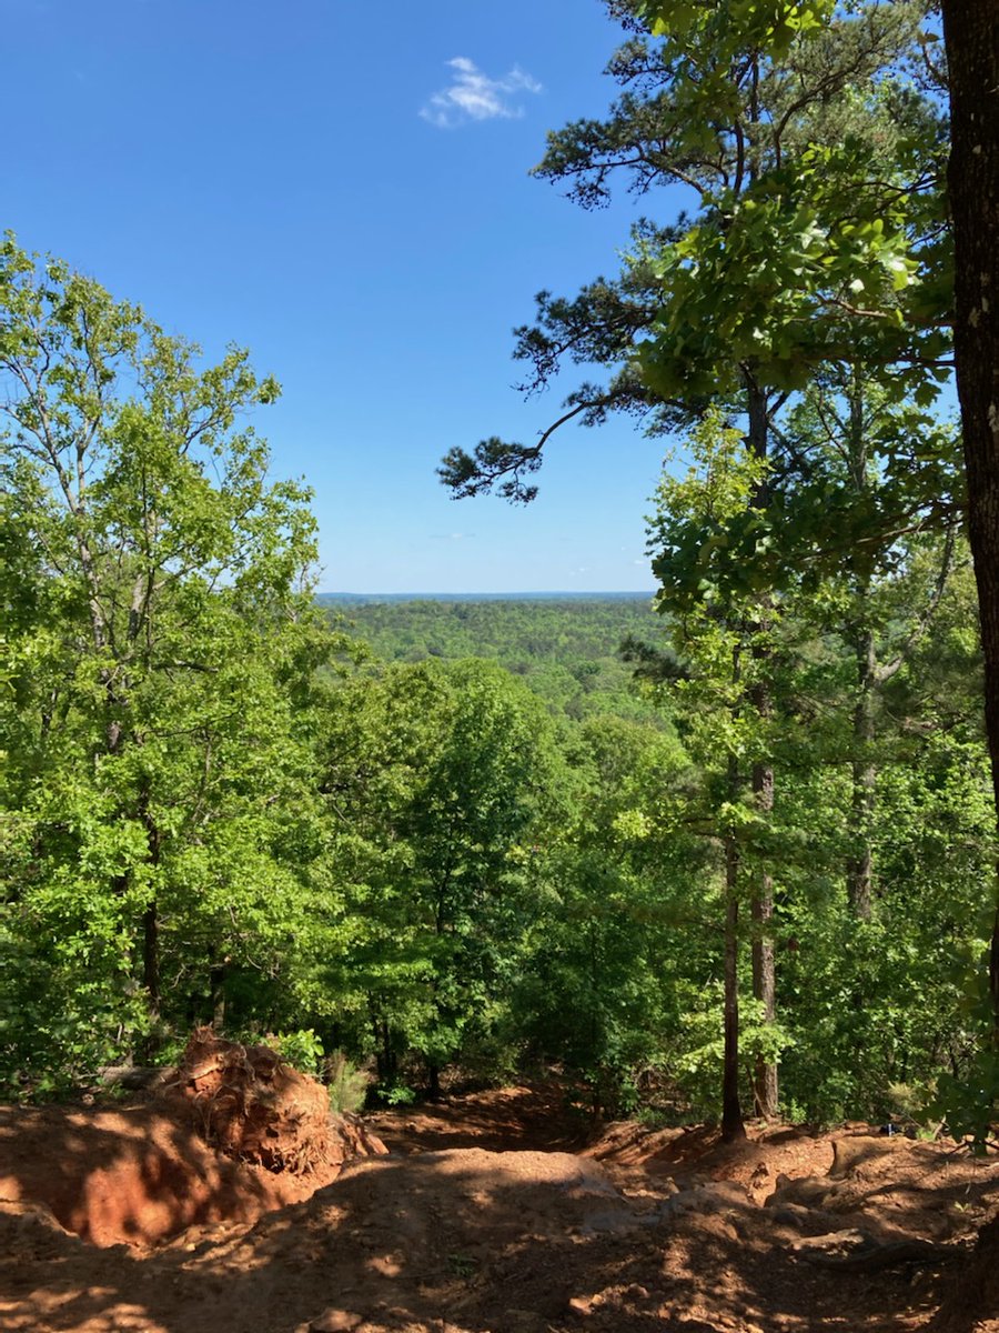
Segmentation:
{"type": "MultiPolygon", "coordinates": [[[[0,1176],[12,1157],[44,1156],[32,1138],[43,1114],[57,1113],[0,1118],[0,1176]]],[[[703,1129],[614,1125],[594,1138],[557,1088],[370,1124],[389,1156],[348,1162],[254,1222],[202,1221],[156,1248],[95,1248],[21,1185],[0,1202],[0,1326],[903,1333],[928,1330],[956,1292],[940,1329],[999,1333],[988,1276],[978,1308],[971,1288],[966,1309],[960,1294],[975,1234],[999,1208],[999,1165],[944,1145],[860,1128],[773,1129],[734,1149],[703,1129]]],[[[72,1174],[72,1156],[49,1160],[72,1174]]]]}

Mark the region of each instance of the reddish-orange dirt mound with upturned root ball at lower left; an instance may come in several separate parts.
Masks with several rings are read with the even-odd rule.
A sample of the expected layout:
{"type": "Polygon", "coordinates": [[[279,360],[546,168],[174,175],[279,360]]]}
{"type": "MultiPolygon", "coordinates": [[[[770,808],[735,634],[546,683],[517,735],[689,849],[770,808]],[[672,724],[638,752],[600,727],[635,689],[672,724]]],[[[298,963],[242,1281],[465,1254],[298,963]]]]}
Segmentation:
{"type": "Polygon", "coordinates": [[[152,1101],[0,1106],[0,1205],[41,1208],[95,1245],[145,1246],[253,1222],[309,1198],[352,1157],[385,1152],[273,1050],[202,1030],[152,1101]]]}

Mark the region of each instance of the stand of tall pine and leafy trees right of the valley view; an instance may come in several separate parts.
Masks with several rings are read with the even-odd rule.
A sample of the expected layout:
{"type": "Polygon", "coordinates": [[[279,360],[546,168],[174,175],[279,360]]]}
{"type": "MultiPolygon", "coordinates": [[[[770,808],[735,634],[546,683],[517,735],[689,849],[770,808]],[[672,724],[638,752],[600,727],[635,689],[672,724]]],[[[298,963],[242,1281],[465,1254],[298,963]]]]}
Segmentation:
{"type": "MultiPolygon", "coordinates": [[[[549,856],[521,1021],[594,1085],[611,1072],[623,1090],[655,1060],[710,1106],[723,1048],[709,922],[723,902],[729,964],[742,944],[777,950],[779,1018],[743,1004],[743,1054],[781,1061],[802,1114],[882,1114],[892,1089],[970,1065],[975,1021],[951,962],[984,937],[994,860],[968,725],[979,665],[959,440],[932,413],[951,259],[946,127],[911,77],[926,8],[611,12],[627,31],[609,65],[621,96],[550,133],[535,172],[583,207],[618,176],[639,193],[682,184],[698,213],[639,224],[615,279],[541,293],[517,333],[525,391],[567,363],[603,383],[573,389],[537,444],[453,449],[442,476],[458,495],[529,500],[566,421],[625,412],[649,433],[685,432],[690,472],[663,481],[650,529],[670,648],[629,652],[686,758],[654,801],[615,808],[622,788],[605,793],[606,813],[570,822],[549,856]],[[647,916],[634,938],[635,910],[690,912],[670,853],[694,837],[705,910],[682,944],[647,916]],[[654,848],[658,880],[638,848],[654,848]],[[734,937],[747,902],[759,920],[743,913],[734,937]]],[[[726,978],[731,1016],[731,966],[726,978]]],[[[980,1125],[991,1073],[975,1077],[980,1125]]]]}

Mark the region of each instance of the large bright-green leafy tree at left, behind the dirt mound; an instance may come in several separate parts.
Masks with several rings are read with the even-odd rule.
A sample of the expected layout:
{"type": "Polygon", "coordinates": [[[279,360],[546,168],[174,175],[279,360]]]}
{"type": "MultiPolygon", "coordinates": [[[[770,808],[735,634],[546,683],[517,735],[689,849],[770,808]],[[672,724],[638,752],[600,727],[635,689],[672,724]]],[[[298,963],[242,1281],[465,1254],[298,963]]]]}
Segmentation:
{"type": "MultiPolygon", "coordinates": [[[[0,247],[16,559],[0,734],[0,1065],[72,1084],[274,976],[314,841],[306,492],[240,419],[277,385],[0,247]],[[23,576],[23,577],[21,577],[23,576]],[[221,1002],[221,994],[216,996],[221,1002]]],[[[246,1014],[249,1017],[252,1014],[246,1014]]]]}

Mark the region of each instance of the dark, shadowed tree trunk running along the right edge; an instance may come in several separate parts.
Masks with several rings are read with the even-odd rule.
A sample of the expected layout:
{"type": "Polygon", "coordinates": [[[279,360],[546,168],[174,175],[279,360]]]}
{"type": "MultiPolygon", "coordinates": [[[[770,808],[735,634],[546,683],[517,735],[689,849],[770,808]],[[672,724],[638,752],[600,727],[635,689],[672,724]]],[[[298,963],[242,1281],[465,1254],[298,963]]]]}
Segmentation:
{"type": "MultiPolygon", "coordinates": [[[[942,9],[951,95],[954,352],[999,813],[999,0],[943,0],[942,9]]],[[[999,1029],[996,906],[990,982],[999,1029]]]]}

